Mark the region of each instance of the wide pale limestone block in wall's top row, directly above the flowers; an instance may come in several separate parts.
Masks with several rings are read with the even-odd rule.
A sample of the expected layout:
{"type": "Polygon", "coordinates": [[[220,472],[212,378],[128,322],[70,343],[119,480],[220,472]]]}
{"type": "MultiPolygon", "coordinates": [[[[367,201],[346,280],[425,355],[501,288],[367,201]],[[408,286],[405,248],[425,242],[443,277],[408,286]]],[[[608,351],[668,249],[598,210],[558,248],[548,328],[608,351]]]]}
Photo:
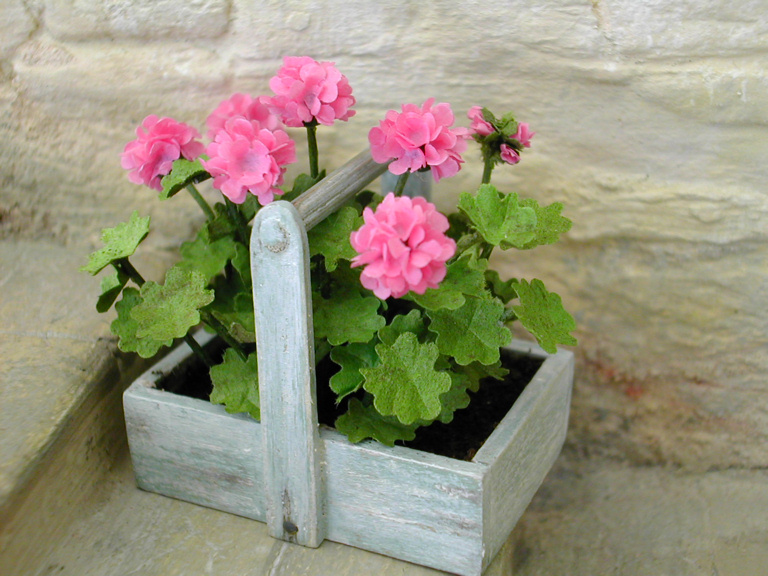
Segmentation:
{"type": "Polygon", "coordinates": [[[367,105],[445,100],[446,91],[487,87],[489,78],[506,87],[515,78],[509,70],[524,60],[536,58],[535,67],[552,56],[592,57],[608,46],[591,5],[580,0],[515,1],[501,12],[480,2],[454,3],[448,11],[438,2],[241,0],[235,7],[230,49],[239,74],[264,59],[279,63],[286,54],[306,53],[336,61],[367,105]]]}

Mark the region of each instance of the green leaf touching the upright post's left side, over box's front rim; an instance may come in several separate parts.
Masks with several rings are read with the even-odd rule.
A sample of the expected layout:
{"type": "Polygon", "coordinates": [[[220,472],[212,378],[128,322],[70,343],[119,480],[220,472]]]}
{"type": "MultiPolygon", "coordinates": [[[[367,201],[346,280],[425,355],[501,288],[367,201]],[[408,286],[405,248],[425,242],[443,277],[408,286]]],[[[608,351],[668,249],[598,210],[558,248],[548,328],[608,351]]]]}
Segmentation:
{"type": "Polygon", "coordinates": [[[227,348],[224,361],[211,368],[211,380],[213,404],[224,404],[224,409],[231,414],[247,412],[256,420],[261,419],[255,352],[244,361],[232,348],[227,348]]]}

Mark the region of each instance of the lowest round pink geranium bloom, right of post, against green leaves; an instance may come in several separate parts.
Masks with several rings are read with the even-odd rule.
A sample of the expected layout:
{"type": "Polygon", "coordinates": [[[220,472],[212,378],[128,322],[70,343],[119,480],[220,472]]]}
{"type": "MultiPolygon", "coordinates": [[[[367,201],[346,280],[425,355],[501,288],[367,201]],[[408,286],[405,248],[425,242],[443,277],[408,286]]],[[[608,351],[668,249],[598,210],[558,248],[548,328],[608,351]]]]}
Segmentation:
{"type": "Polygon", "coordinates": [[[390,192],[375,212],[366,208],[363,219],[365,224],[350,236],[359,253],[352,266],[365,266],[363,286],[382,300],[438,287],[456,243],[444,234],[448,219],[434,204],[390,192]]]}

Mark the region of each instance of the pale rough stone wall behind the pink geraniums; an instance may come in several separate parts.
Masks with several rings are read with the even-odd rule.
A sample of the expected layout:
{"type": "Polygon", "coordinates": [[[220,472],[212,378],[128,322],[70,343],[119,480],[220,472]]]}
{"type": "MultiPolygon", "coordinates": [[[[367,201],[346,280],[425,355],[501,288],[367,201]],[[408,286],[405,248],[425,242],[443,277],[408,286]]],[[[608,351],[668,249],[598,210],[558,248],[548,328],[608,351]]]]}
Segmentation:
{"type": "MultiPolygon", "coordinates": [[[[86,252],[138,208],[154,218],[145,258],[171,258],[197,208],[126,180],[135,126],[202,126],[302,54],[335,61],[358,99],[320,133],[329,167],[387,109],[431,96],[537,132],[494,180],[564,201],[575,225],[499,264],[577,318],[571,449],[768,466],[766,0],[4,0],[0,236],[86,252]]],[[[479,182],[469,160],[436,187],[441,207],[479,182]]]]}

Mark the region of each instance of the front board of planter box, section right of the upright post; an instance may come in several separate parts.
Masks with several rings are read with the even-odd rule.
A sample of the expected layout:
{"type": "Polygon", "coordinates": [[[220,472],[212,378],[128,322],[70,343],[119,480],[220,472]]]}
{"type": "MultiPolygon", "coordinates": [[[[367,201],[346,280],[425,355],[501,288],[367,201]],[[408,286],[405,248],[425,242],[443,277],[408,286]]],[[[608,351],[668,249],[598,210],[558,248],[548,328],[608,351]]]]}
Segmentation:
{"type": "Polygon", "coordinates": [[[487,466],[324,429],[328,538],[455,574],[479,575],[487,466]]]}

